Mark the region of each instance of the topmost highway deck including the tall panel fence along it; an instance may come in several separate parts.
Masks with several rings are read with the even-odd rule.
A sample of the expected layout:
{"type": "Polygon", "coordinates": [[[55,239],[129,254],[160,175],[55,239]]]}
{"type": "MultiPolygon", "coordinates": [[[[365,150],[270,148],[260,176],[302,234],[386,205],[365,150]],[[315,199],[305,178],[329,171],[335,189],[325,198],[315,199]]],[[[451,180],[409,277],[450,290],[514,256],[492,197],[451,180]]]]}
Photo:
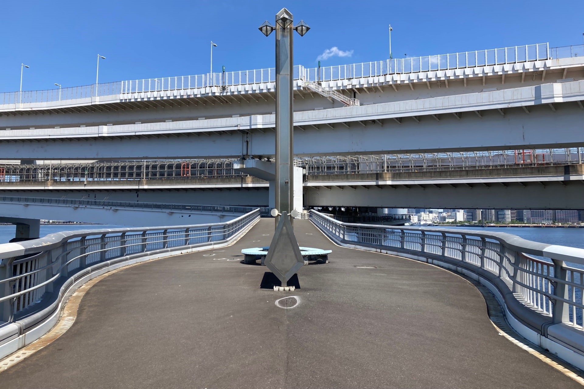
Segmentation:
{"type": "MultiPolygon", "coordinates": [[[[309,82],[361,105],[582,79],[584,45],[549,44],[392,59],[320,69],[296,66],[294,109],[342,107],[309,82]]],[[[269,115],[274,69],[127,80],[0,93],[0,128],[79,127],[269,115]]]]}

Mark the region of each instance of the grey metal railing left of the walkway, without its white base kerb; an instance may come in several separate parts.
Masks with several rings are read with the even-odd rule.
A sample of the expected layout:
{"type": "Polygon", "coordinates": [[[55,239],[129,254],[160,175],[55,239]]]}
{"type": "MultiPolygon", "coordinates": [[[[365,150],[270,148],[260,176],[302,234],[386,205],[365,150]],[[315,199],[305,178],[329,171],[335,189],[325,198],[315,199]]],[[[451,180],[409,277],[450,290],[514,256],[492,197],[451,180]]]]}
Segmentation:
{"type": "Polygon", "coordinates": [[[49,234],[0,244],[0,321],[10,323],[53,304],[75,274],[131,257],[227,242],[260,218],[253,209],[224,223],[117,227],[49,234]]]}

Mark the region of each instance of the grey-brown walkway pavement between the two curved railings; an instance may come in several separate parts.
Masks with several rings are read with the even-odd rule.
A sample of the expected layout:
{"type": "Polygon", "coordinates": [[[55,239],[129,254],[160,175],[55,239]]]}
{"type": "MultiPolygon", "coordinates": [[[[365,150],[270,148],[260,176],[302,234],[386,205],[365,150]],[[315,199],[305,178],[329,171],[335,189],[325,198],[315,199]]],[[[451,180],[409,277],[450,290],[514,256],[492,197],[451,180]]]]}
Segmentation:
{"type": "Polygon", "coordinates": [[[444,269],[335,246],[295,292],[260,289],[262,219],[230,247],[147,262],[96,283],[75,324],[0,374],[9,388],[576,388],[507,341],[478,290],[444,269]],[[367,266],[372,268],[358,268],[367,266]],[[276,305],[277,299],[284,299],[276,305]]]}

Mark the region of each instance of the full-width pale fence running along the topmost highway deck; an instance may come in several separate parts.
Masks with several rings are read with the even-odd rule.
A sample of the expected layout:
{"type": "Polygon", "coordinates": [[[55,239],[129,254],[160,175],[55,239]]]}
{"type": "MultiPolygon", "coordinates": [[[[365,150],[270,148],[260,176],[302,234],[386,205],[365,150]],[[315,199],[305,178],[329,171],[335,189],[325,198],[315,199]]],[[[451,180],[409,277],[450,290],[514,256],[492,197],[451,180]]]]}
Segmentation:
{"type": "MultiPolygon", "coordinates": [[[[313,82],[363,78],[401,73],[416,73],[447,69],[474,68],[477,66],[517,64],[544,59],[580,57],[584,45],[552,47],[538,43],[488,50],[465,51],[453,54],[425,55],[423,57],[385,59],[360,64],[304,68],[294,66],[294,79],[313,82]]],[[[237,72],[206,73],[202,75],[175,76],[150,79],[124,80],[98,85],[64,87],[61,89],[27,90],[0,93],[0,106],[5,104],[49,103],[60,100],[91,99],[129,93],[171,92],[204,87],[230,87],[274,82],[274,68],[237,72]]],[[[185,93],[182,93],[185,94],[185,93]]],[[[124,97],[122,97],[124,98],[124,97]]]]}

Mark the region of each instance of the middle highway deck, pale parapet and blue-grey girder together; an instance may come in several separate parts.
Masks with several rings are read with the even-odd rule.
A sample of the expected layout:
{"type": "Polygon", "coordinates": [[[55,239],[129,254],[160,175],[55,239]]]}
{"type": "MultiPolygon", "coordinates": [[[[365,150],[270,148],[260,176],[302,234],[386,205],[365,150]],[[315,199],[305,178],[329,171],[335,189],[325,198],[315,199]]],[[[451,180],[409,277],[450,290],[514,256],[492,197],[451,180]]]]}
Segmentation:
{"type": "MultiPolygon", "coordinates": [[[[294,114],[298,156],[574,147],[584,80],[294,114]],[[558,125],[561,122],[561,125],[558,125]],[[472,131],[469,129],[472,128],[472,131]]],[[[274,115],[0,132],[6,159],[272,156],[274,115]]]]}

